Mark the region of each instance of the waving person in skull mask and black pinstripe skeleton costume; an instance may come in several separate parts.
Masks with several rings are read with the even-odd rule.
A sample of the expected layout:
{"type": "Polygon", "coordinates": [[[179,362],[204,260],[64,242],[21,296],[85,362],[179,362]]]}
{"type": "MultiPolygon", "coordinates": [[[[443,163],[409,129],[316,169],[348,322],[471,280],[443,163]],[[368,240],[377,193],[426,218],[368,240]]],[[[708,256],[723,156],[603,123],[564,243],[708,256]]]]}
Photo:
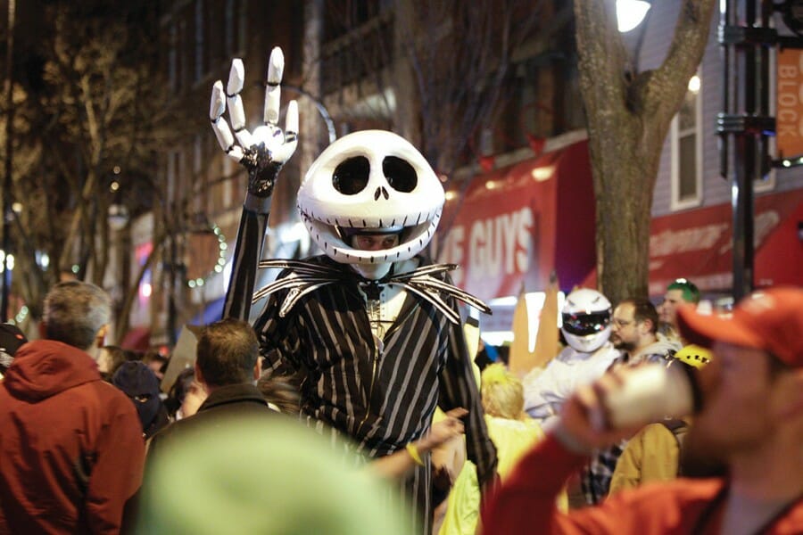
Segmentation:
{"type": "MultiPolygon", "coordinates": [[[[406,140],[369,130],[335,141],[307,172],[298,209],[323,255],[302,261],[263,260],[283,268],[253,293],[270,195],[293,154],[298,111],[277,128],[281,50],[270,56],[265,125],[249,133],[235,60],[227,94],[217,82],[210,119],[219,144],[248,169],[249,187],[237,236],[224,315],[247,318],[267,298],[254,323],[272,374],[301,380],[302,417],[310,426],[346,435],[366,457],[383,457],[424,435],[435,406],[465,407],[468,457],[479,481],[495,480],[496,453],[484,424],[458,300],[488,311],[451,285],[452,265],[432,265],[419,253],[435,233],[444,193],[435,172],[406,140]],[[231,129],[222,118],[228,103],[231,129]],[[235,138],[236,136],[236,138],[235,138]]],[[[338,442],[339,443],[339,442],[338,442]]],[[[412,454],[411,454],[412,455],[412,454]]],[[[414,455],[413,457],[418,457],[414,455]]],[[[403,495],[430,531],[429,456],[402,484],[403,495]]]]}

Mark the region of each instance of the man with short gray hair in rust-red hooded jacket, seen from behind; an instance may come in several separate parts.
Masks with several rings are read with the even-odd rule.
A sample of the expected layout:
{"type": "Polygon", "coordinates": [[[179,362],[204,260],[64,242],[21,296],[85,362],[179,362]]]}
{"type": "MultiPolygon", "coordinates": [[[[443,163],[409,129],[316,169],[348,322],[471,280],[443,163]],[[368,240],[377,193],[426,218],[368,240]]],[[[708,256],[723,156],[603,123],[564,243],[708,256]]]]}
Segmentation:
{"type": "Polygon", "coordinates": [[[56,284],[43,340],[23,345],[0,382],[0,532],[120,531],[145,442],[131,401],[89,355],[110,317],[109,296],[94,284],[56,284]]]}

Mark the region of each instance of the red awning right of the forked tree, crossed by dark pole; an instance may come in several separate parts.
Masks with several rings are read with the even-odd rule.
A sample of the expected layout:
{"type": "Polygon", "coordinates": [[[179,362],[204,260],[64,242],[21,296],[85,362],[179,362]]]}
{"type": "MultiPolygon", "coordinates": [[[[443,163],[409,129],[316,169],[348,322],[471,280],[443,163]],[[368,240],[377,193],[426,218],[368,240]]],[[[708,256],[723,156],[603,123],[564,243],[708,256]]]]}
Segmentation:
{"type": "MultiPolygon", "coordinates": [[[[650,224],[650,295],[686,277],[708,292],[727,292],[733,285],[733,222],[730,204],[653,218],[650,224]]],[[[757,287],[803,285],[803,190],[770,193],[755,201],[757,287]]],[[[583,285],[595,287],[596,269],[583,285]]]]}

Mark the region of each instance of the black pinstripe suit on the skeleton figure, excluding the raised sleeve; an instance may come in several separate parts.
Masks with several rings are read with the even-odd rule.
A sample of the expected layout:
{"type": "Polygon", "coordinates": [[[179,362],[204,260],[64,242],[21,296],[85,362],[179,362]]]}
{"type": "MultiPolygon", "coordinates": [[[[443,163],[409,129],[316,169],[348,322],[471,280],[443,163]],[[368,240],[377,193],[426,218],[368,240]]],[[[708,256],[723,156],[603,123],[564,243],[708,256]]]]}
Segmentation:
{"type": "MultiPolygon", "coordinates": [[[[285,292],[276,292],[254,324],[268,369],[302,374],[303,414],[348,435],[366,456],[381,457],[426,432],[436,405],[466,407],[468,457],[481,482],[492,478],[495,449],[460,326],[408,293],[383,343],[377,344],[358,290],[359,276],[325,256],[309,261],[342,269],[343,283],[310,292],[285,317],[278,315],[285,292]]],[[[431,516],[429,483],[427,458],[424,469],[405,483],[407,496],[417,497],[410,505],[418,509],[425,532],[431,516]]]]}

